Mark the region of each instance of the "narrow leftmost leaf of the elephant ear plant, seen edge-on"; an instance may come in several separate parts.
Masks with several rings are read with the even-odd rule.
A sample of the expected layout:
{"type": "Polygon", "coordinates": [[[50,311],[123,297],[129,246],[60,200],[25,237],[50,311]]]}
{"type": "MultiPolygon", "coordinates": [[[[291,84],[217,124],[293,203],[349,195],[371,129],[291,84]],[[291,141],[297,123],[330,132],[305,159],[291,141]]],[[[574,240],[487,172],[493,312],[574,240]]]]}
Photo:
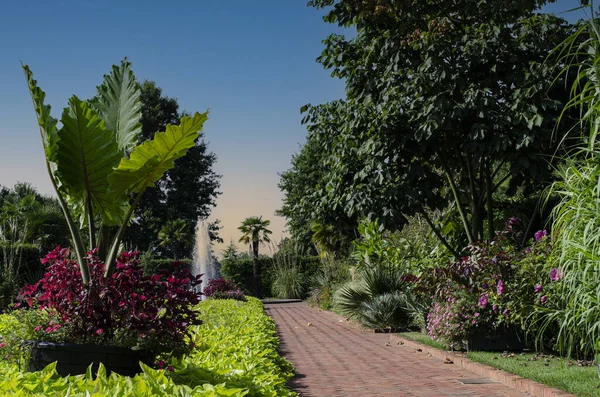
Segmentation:
{"type": "Polygon", "coordinates": [[[50,105],[44,104],[46,93],[38,87],[37,81],[33,79],[33,72],[31,72],[27,65],[22,65],[22,67],[23,72],[25,72],[25,78],[27,79],[27,86],[29,87],[33,107],[37,115],[40,134],[44,144],[44,152],[46,153],[48,161],[53,163],[56,155],[56,143],[58,141],[56,130],[58,121],[50,115],[50,105]]]}

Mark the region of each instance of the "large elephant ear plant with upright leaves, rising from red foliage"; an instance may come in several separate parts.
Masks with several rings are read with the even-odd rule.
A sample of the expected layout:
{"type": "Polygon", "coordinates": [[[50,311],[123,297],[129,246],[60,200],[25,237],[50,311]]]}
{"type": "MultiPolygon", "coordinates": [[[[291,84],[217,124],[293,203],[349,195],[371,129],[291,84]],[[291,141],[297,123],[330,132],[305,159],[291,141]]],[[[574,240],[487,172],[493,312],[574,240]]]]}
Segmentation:
{"type": "Polygon", "coordinates": [[[138,142],[140,89],[127,59],[113,66],[96,97],[69,99],[60,119],[50,115],[46,94],[23,65],[37,114],[46,168],[73,239],[83,283],[90,273],[82,229],[89,249],[98,248],[105,276],[115,270],[117,253],[144,190],[158,181],[195,145],[207,113],[183,117],[154,139],[138,142]],[[112,236],[111,236],[112,235],[112,236]]]}

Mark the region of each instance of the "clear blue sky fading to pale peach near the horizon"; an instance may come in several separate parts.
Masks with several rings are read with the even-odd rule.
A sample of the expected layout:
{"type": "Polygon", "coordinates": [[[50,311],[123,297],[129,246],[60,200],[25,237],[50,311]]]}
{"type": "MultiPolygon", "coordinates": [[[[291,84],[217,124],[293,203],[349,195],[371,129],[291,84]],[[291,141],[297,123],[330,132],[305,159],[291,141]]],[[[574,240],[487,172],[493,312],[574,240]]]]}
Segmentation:
{"type": "MultiPolygon", "coordinates": [[[[577,4],[559,0],[547,9],[577,4]]],[[[210,108],[205,138],[223,175],[211,218],[222,219],[225,239],[237,240],[236,227],[252,215],[271,219],[281,238],[277,173],[304,141],[299,109],[344,93],[315,62],[321,40],[340,32],[322,14],[306,0],[0,0],[0,184],[52,190],[19,61],[58,117],[68,97],[92,96],[127,56],[138,79],[156,81],[182,109],[210,108]]]]}

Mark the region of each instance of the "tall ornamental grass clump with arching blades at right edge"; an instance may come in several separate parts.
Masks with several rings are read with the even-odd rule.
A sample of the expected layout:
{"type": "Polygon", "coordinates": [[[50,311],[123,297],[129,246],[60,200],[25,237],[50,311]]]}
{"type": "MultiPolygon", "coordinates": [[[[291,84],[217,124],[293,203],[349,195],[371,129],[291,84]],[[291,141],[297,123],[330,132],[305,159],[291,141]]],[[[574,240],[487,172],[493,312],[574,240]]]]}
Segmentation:
{"type": "MultiPolygon", "coordinates": [[[[556,347],[576,356],[600,357],[600,23],[591,17],[559,45],[561,75],[577,72],[571,98],[563,113],[579,110],[585,147],[573,150],[556,170],[557,181],[548,198],[560,199],[552,212],[554,253],[550,281],[557,283],[553,297],[536,310],[540,317],[538,340],[556,333],[556,347]]],[[[569,126],[570,127],[570,126],[569,126]]],[[[566,137],[562,139],[566,140],[566,137]]],[[[541,299],[541,298],[540,298],[541,299]]]]}

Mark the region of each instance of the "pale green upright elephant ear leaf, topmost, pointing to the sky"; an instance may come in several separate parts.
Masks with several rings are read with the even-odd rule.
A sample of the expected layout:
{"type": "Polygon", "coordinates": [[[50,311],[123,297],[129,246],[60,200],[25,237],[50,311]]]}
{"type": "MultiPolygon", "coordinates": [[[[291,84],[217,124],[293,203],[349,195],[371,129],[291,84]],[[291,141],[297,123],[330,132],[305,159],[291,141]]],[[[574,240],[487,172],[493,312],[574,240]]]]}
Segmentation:
{"type": "Polygon", "coordinates": [[[115,133],[119,150],[128,154],[142,130],[140,89],[131,63],[124,59],[121,65],[113,65],[110,74],[104,76],[104,82],[97,88],[98,96],[92,100],[92,105],[106,128],[115,133]]]}

